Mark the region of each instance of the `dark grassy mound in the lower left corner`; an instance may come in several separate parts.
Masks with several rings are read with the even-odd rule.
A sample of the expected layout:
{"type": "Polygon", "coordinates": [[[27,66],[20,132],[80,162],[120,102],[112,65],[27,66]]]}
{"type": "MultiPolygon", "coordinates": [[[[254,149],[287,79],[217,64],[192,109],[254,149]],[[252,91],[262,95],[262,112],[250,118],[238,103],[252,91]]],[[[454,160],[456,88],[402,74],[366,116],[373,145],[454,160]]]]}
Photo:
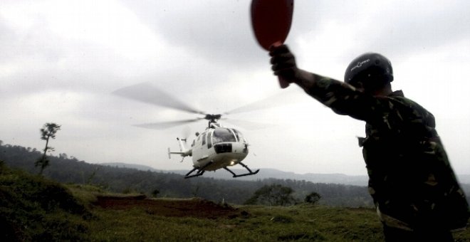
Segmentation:
{"type": "Polygon", "coordinates": [[[0,241],[80,241],[90,215],[61,184],[0,162],[0,241]]]}

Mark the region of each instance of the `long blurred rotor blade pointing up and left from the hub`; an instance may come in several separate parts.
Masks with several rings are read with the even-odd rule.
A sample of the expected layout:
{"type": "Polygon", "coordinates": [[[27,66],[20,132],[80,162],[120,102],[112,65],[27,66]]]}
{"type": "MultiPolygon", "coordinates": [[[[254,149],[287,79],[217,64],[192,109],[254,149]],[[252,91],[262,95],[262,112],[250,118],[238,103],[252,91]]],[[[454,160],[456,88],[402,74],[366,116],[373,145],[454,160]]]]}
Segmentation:
{"type": "Polygon", "coordinates": [[[131,85],[125,88],[120,88],[113,92],[115,95],[120,95],[124,98],[130,98],[140,102],[150,103],[162,107],[169,107],[176,110],[192,112],[204,115],[205,113],[187,105],[186,103],[173,98],[172,95],[164,93],[150,83],[140,83],[131,85]]]}

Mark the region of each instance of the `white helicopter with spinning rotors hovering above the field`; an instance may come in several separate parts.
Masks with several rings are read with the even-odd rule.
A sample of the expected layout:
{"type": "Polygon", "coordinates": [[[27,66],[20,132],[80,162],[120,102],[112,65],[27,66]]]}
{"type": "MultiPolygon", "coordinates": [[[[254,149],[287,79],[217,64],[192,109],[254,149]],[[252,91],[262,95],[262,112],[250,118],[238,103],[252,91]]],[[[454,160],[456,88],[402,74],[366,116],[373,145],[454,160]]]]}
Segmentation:
{"type": "Polygon", "coordinates": [[[137,127],[161,130],[167,127],[187,124],[189,122],[208,120],[206,130],[202,133],[196,132],[196,138],[193,140],[191,147],[186,146],[187,139],[177,137],[180,148],[179,152],[172,152],[168,148],[169,159],[171,159],[171,154],[181,155],[182,162],[184,161],[184,157],[192,157],[193,166],[192,169],[184,175],[185,179],[199,177],[202,176],[204,172],[216,171],[218,169],[225,169],[227,172],[230,172],[233,177],[244,177],[258,174],[259,169],[253,171],[246,164],[241,162],[249,153],[249,143],[246,142],[241,132],[233,127],[224,127],[218,121],[223,117],[223,115],[239,112],[240,110],[244,110],[243,112],[246,112],[246,110],[256,110],[260,107],[256,107],[256,105],[245,105],[244,107],[239,107],[235,110],[231,110],[230,112],[224,112],[223,114],[207,114],[206,112],[197,110],[186,103],[173,98],[171,95],[164,93],[151,83],[140,83],[120,88],[115,90],[113,94],[140,102],[150,103],[152,105],[159,105],[175,110],[194,113],[196,115],[202,115],[202,117],[196,117],[189,120],[153,122],[135,125],[137,127]],[[236,164],[240,164],[247,172],[244,174],[236,174],[229,169],[229,167],[235,166],[236,164]]]}

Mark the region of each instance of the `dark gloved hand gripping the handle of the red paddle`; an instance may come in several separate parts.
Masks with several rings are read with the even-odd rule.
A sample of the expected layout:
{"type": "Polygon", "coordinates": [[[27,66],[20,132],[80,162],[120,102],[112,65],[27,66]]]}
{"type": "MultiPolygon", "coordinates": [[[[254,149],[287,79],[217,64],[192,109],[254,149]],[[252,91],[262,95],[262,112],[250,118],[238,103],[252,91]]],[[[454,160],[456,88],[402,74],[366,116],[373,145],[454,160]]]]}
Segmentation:
{"type": "Polygon", "coordinates": [[[298,68],[296,58],[286,45],[271,46],[269,49],[271,56],[271,69],[274,75],[278,75],[288,83],[296,82],[298,68]]]}

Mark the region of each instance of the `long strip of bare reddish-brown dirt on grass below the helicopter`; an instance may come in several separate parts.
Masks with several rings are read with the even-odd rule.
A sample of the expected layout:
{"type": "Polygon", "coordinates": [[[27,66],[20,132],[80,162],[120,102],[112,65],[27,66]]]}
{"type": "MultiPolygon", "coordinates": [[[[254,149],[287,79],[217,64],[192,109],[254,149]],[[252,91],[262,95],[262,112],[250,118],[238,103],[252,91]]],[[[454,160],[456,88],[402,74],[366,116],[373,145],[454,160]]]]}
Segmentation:
{"type": "Polygon", "coordinates": [[[197,217],[217,219],[220,217],[235,218],[247,216],[246,211],[240,211],[228,205],[215,204],[200,198],[193,199],[149,199],[139,196],[97,196],[95,206],[105,209],[142,208],[148,214],[158,216],[197,217]]]}

